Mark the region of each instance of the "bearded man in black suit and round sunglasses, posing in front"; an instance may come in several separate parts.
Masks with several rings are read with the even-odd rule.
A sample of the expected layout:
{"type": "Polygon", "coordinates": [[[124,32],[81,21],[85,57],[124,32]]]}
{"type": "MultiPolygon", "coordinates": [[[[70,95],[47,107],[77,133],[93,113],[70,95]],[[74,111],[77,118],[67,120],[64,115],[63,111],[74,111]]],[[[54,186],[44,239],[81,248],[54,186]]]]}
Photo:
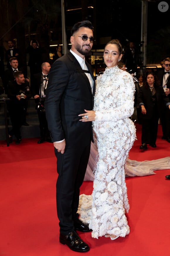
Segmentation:
{"type": "Polygon", "coordinates": [[[93,109],[95,79],[91,66],[85,61],[94,41],[91,22],[76,23],[70,41],[71,50],[50,69],[45,111],[57,157],[60,242],[71,250],[86,252],[90,248],[76,230],[91,230],[79,220],[77,209],[93,135],[91,122],[79,122],[78,115],[84,113],[84,109],[93,109]]]}

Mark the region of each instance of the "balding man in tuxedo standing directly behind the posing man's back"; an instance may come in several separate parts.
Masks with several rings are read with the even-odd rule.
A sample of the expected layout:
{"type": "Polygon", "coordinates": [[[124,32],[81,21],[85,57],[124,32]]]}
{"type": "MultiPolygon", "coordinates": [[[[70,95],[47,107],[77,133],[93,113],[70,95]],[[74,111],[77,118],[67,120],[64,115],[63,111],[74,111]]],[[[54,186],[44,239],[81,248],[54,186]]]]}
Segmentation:
{"type": "Polygon", "coordinates": [[[41,144],[44,141],[51,142],[44,109],[46,89],[48,85],[48,73],[50,68],[50,63],[43,62],[41,65],[42,72],[33,75],[33,81],[31,84],[32,95],[35,99],[38,119],[40,122],[40,139],[37,142],[38,144],[41,144]]]}

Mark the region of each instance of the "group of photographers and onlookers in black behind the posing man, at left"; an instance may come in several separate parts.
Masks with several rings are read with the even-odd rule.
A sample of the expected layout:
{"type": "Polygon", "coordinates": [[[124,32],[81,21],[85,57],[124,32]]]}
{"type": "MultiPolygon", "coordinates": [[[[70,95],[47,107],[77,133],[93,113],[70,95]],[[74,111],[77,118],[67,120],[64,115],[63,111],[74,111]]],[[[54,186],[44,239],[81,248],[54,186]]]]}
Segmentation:
{"type": "MultiPolygon", "coordinates": [[[[31,40],[30,45],[26,49],[29,58],[28,72],[30,73],[30,78],[27,78],[28,72],[22,65],[21,51],[14,47],[12,40],[8,41],[8,46],[9,49],[6,50],[5,54],[3,47],[0,47],[0,77],[2,81],[0,94],[6,94],[10,99],[7,102],[7,110],[12,125],[12,129],[9,131],[9,143],[13,142],[13,136],[15,136],[15,144],[20,144],[20,128],[22,125],[29,126],[26,122],[26,114],[28,99],[30,98],[35,99],[35,108],[38,113],[40,126],[40,139],[38,140],[38,144],[44,141],[51,142],[44,108],[48,73],[51,67],[50,61],[43,62],[44,49],[39,45],[38,41],[31,40]],[[7,62],[6,68],[4,67],[4,55],[7,62]],[[24,97],[22,97],[21,94],[24,94],[24,97]]],[[[57,46],[55,54],[57,54],[57,57],[55,56],[56,59],[63,56],[61,46],[57,46]]]]}

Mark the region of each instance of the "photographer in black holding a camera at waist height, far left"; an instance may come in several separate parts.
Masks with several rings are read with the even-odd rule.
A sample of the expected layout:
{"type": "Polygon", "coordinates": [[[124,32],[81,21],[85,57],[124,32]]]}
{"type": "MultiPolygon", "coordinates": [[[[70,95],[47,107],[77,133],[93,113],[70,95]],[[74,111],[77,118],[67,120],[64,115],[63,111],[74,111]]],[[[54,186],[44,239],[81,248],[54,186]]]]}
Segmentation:
{"type": "Polygon", "coordinates": [[[12,130],[9,132],[9,141],[12,142],[12,136],[16,136],[15,144],[21,142],[20,128],[25,118],[25,112],[28,106],[28,99],[31,97],[28,79],[25,80],[22,71],[14,72],[14,81],[9,82],[8,104],[9,116],[11,119],[12,130]]]}

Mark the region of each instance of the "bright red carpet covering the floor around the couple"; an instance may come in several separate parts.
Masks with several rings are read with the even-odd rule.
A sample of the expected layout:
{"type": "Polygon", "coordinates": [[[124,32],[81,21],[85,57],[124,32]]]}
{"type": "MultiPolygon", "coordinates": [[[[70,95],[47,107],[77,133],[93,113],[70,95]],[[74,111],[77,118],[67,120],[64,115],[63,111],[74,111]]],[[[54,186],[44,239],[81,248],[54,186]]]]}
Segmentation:
{"type": "MultiPolygon", "coordinates": [[[[137,139],[130,159],[152,160],[169,156],[170,144],[161,139],[157,148],[140,152],[141,126],[136,124],[137,139]]],[[[1,209],[0,255],[3,256],[67,256],[80,255],[59,243],[56,214],[56,158],[53,145],[37,144],[36,138],[23,139],[6,147],[0,141],[1,209]]],[[[170,238],[170,170],[156,175],[126,178],[130,211],[127,215],[130,234],[111,241],[93,239],[90,233],[78,232],[91,248],[87,255],[169,256],[170,238]]],[[[84,182],[81,193],[91,194],[92,182],[84,182]]]]}

